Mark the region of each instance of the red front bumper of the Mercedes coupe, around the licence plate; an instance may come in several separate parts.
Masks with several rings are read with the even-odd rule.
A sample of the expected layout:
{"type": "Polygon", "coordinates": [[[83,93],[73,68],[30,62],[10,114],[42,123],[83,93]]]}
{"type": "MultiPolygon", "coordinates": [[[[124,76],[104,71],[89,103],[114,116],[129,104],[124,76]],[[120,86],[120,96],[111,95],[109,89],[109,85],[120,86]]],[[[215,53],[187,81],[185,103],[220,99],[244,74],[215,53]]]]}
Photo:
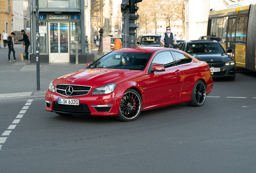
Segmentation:
{"type": "Polygon", "coordinates": [[[50,112],[87,114],[95,116],[117,116],[122,97],[113,97],[114,93],[106,95],[84,95],[64,97],[47,91],[45,95],[45,110],[50,112]],[[79,99],[79,105],[58,104],[58,98],[79,99]]]}

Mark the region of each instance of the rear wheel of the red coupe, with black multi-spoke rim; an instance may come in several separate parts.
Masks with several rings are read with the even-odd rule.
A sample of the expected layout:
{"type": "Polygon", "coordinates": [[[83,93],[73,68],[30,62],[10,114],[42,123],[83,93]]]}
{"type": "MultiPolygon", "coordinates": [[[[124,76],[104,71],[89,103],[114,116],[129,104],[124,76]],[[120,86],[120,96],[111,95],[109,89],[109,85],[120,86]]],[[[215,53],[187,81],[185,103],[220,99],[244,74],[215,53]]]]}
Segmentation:
{"type": "Polygon", "coordinates": [[[202,80],[198,80],[191,94],[191,101],[187,104],[193,107],[200,107],[204,104],[206,98],[206,87],[202,80]]]}

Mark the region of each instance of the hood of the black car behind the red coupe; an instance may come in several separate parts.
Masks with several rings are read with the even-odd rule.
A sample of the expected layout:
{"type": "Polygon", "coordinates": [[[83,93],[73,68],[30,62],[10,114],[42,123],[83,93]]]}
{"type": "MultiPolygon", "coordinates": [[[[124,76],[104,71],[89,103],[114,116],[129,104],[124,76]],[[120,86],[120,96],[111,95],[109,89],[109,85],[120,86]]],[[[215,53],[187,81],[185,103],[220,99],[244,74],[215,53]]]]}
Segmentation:
{"type": "Polygon", "coordinates": [[[206,62],[217,62],[217,61],[227,62],[227,61],[233,60],[231,56],[228,56],[225,53],[197,53],[197,54],[191,54],[191,55],[200,61],[206,61],[206,62]]]}

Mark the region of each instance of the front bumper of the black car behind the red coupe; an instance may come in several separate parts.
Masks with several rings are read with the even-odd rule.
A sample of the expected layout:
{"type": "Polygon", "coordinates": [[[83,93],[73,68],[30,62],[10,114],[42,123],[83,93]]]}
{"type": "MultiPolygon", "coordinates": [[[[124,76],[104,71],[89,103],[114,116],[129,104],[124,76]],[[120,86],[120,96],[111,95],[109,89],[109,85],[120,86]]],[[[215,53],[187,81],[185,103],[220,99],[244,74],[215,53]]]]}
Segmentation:
{"type": "Polygon", "coordinates": [[[234,77],[236,74],[236,64],[221,66],[221,67],[211,67],[211,68],[220,68],[220,72],[211,72],[213,78],[219,77],[234,77]]]}

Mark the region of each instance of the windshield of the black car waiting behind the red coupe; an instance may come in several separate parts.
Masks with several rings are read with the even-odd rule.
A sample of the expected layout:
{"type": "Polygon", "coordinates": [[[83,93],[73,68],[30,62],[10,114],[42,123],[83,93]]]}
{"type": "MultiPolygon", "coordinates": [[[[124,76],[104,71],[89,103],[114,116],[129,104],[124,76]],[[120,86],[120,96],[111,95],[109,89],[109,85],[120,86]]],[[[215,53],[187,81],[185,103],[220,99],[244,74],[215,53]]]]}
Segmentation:
{"type": "Polygon", "coordinates": [[[190,43],[187,46],[188,53],[225,53],[219,43],[190,43]]]}

